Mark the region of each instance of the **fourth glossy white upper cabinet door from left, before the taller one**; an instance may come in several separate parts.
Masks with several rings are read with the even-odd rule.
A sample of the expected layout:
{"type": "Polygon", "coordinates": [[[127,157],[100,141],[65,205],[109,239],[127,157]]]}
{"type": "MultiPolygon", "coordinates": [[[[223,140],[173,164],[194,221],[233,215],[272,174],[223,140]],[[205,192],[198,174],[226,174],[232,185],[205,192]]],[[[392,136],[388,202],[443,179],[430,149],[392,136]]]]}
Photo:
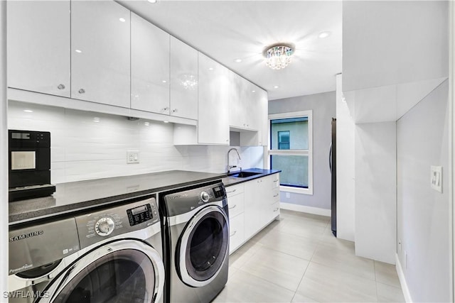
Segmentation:
{"type": "Polygon", "coordinates": [[[171,36],[171,115],[198,119],[198,51],[171,36]]]}

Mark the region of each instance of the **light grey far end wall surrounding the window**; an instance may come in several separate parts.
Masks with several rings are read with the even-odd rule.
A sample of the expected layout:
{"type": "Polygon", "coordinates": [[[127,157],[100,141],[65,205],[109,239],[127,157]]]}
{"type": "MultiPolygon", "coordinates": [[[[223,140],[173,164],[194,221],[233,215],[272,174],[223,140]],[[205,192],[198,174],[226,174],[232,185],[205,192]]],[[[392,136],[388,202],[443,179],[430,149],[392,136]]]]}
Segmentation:
{"type": "MultiPolygon", "coordinates": [[[[313,111],[313,194],[281,192],[281,202],[308,206],[309,210],[311,208],[328,210],[331,209],[331,172],[328,167],[328,153],[331,144],[331,119],[336,116],[335,92],[269,101],[269,114],[309,109],[313,111]]],[[[319,214],[330,213],[323,211],[319,214]]]]}

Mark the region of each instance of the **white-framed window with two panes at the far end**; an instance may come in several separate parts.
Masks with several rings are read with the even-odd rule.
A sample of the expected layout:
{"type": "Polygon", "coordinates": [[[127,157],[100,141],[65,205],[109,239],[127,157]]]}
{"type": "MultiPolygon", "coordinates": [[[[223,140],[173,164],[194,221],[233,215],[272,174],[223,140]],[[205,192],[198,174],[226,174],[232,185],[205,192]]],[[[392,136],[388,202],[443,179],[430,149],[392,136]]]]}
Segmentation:
{"type": "Polygon", "coordinates": [[[281,190],[313,194],[312,111],[269,115],[269,167],[281,170],[281,190]]]}

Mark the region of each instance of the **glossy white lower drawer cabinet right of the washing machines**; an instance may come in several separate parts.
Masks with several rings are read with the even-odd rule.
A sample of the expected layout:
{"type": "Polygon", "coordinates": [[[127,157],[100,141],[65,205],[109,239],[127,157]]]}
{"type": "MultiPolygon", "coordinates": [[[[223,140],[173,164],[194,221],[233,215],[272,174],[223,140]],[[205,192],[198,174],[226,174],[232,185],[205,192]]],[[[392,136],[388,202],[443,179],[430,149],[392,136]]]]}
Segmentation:
{"type": "Polygon", "coordinates": [[[279,174],[226,187],[230,253],[279,216],[279,174]]]}

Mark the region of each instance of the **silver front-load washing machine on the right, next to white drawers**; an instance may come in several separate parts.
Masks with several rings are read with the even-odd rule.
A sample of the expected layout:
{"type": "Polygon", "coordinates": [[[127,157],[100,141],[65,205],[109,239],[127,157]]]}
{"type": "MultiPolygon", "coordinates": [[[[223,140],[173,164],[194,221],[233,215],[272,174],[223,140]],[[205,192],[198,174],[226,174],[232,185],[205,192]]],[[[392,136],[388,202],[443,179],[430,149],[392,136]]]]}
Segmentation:
{"type": "Polygon", "coordinates": [[[166,302],[210,302],[228,281],[229,215],[222,182],[159,194],[166,302]]]}

